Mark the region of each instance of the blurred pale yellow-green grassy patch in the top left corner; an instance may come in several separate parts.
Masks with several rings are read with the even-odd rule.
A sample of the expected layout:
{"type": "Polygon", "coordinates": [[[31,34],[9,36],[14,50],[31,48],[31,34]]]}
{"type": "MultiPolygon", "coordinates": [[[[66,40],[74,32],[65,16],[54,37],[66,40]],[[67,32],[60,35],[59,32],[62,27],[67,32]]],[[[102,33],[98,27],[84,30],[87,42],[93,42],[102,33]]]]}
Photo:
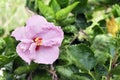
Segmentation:
{"type": "Polygon", "coordinates": [[[7,30],[6,34],[24,25],[29,16],[25,4],[26,0],[0,0],[0,27],[7,30]]]}

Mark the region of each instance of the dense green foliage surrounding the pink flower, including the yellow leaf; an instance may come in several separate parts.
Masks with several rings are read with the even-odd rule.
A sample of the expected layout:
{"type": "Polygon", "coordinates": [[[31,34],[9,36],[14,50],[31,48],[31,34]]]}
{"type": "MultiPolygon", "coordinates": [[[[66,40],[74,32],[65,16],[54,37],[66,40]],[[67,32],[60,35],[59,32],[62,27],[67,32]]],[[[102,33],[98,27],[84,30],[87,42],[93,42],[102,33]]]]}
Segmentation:
{"type": "Polygon", "coordinates": [[[119,0],[27,0],[26,7],[61,26],[60,56],[52,66],[28,65],[16,53],[19,42],[10,36],[13,28],[2,26],[0,80],[54,80],[54,76],[59,80],[120,79],[119,0]]]}

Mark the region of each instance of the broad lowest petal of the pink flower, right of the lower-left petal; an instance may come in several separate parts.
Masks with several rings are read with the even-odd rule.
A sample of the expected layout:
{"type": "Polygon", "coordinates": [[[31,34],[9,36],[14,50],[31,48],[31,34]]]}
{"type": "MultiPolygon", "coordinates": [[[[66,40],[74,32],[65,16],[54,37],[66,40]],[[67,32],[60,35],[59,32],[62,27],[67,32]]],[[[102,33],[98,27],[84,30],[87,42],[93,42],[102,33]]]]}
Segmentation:
{"type": "Polygon", "coordinates": [[[30,52],[31,54],[33,54],[32,57],[34,58],[33,61],[42,64],[53,64],[53,62],[55,62],[59,56],[59,48],[56,46],[53,47],[40,46],[38,50],[36,50],[36,47],[34,46],[30,49],[30,52]]]}

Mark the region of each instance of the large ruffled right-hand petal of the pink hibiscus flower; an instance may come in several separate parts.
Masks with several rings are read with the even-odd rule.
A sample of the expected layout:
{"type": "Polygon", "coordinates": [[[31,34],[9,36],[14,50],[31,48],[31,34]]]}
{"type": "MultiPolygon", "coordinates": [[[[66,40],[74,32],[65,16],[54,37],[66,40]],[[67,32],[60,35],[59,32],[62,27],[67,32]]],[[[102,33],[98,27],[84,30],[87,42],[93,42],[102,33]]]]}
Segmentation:
{"type": "Polygon", "coordinates": [[[60,46],[64,38],[64,33],[60,27],[49,26],[42,28],[38,36],[43,38],[43,46],[60,46]]]}

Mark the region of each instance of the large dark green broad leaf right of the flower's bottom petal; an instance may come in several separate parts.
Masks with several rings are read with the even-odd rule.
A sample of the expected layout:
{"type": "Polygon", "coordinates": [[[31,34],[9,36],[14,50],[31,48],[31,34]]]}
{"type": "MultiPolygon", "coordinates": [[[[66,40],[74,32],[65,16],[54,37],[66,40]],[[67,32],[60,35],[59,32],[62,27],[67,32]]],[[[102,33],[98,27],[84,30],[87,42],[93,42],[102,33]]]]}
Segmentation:
{"type": "Polygon", "coordinates": [[[74,64],[81,69],[90,70],[96,65],[94,53],[85,45],[68,46],[67,52],[71,54],[74,64]]]}

